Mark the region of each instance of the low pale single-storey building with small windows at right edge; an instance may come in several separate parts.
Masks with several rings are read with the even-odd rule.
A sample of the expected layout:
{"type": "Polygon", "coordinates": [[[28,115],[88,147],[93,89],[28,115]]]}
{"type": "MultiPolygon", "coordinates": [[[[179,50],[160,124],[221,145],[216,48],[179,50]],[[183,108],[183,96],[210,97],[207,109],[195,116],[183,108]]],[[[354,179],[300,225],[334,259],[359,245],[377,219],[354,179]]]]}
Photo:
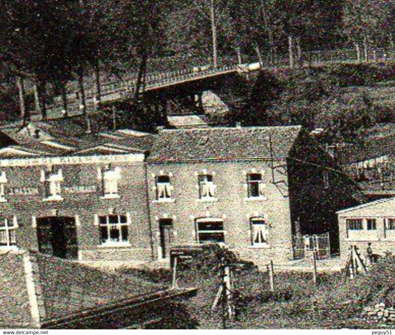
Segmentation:
{"type": "Polygon", "coordinates": [[[357,246],[366,257],[368,243],[374,254],[395,252],[395,197],[340,210],[337,215],[343,258],[348,257],[350,246],[357,246]]]}

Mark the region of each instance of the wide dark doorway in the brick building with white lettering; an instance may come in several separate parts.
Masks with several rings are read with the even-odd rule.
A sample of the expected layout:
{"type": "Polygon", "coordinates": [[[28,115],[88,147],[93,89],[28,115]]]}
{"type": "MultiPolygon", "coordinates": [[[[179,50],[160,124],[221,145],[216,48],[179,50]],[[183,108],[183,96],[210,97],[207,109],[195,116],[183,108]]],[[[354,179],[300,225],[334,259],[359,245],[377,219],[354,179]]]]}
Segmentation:
{"type": "Polygon", "coordinates": [[[37,219],[38,250],[43,254],[66,259],[78,258],[75,219],[50,216],[37,219]]]}

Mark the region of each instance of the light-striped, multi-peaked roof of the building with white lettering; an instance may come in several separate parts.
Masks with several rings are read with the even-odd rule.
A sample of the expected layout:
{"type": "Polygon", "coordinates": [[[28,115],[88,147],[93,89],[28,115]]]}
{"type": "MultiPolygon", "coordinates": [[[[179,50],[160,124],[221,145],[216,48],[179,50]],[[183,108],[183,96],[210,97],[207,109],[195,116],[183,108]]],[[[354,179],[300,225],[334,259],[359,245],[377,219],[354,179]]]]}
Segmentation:
{"type": "Polygon", "coordinates": [[[109,155],[144,153],[149,150],[154,135],[122,129],[87,134],[76,120],[37,121],[0,127],[0,134],[9,138],[0,158],[20,158],[64,155],[109,155]],[[5,150],[5,149],[8,150],[5,150]]]}

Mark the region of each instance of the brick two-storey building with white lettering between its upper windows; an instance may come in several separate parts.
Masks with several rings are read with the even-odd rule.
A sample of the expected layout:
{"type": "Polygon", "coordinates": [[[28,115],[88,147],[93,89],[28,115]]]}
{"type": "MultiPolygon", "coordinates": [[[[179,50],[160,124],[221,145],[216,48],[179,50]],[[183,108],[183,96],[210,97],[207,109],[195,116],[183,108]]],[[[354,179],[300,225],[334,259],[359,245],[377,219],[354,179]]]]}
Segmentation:
{"type": "Polygon", "coordinates": [[[144,165],[151,135],[47,123],[2,133],[9,141],[0,149],[0,248],[151,259],[144,165]]]}

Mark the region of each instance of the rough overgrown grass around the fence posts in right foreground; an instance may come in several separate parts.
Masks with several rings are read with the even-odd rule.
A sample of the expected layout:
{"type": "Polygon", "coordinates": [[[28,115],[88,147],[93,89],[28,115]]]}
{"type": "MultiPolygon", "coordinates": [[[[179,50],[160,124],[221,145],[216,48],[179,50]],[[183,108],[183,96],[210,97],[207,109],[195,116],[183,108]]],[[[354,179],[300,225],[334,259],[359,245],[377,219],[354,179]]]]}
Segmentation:
{"type": "MultiPolygon", "coordinates": [[[[384,302],[394,305],[394,257],[388,256],[371,271],[354,280],[342,273],[319,274],[318,284],[309,273],[276,273],[275,293],[269,290],[267,273],[254,268],[234,271],[236,318],[229,328],[377,328],[372,320],[361,318],[366,306],[384,302]]],[[[123,270],[154,282],[170,283],[169,270],[123,270]]],[[[181,286],[195,286],[198,295],[187,303],[188,314],[201,328],[222,327],[221,309],[211,312],[220,284],[215,273],[180,271],[181,286]]]]}

